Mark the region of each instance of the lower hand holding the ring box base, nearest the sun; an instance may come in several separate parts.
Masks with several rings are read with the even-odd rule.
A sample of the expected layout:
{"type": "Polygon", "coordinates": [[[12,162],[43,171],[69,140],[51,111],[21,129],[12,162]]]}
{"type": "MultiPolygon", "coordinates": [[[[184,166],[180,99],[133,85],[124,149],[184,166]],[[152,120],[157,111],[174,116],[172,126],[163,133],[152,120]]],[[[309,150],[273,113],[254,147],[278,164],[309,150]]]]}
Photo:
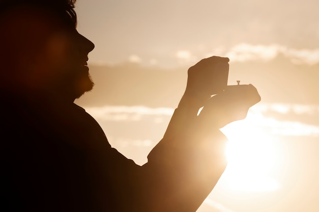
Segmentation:
{"type": "Polygon", "coordinates": [[[248,109],[259,101],[260,96],[252,84],[228,86],[225,92],[206,101],[198,117],[199,124],[201,127],[222,128],[244,119],[248,109]]]}

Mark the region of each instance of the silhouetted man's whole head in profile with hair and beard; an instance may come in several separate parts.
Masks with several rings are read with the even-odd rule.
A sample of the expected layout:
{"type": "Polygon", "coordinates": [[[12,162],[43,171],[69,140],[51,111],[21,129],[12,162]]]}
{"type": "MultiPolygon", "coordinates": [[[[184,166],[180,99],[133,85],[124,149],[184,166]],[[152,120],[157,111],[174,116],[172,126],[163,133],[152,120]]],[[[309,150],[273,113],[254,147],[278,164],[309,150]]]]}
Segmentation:
{"type": "Polygon", "coordinates": [[[91,90],[88,53],[76,31],[75,1],[0,0],[0,86],[75,99],[91,90]]]}

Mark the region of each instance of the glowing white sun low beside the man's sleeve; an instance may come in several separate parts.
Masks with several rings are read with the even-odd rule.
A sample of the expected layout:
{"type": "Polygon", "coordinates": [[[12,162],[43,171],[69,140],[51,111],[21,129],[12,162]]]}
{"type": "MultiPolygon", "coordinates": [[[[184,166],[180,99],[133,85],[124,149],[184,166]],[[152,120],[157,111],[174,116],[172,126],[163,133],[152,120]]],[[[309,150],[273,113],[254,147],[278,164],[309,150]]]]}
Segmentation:
{"type": "Polygon", "coordinates": [[[262,129],[262,117],[248,113],[245,120],[231,123],[222,132],[228,137],[224,172],[228,189],[244,192],[280,188],[276,169],[282,159],[276,140],[262,129]]]}

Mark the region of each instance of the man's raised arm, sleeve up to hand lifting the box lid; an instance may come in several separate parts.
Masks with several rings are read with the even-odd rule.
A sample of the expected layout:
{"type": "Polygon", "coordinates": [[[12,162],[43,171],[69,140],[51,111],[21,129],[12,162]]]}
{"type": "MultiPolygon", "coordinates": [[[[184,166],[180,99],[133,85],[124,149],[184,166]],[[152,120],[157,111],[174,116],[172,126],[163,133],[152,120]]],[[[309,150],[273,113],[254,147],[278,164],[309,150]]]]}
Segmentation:
{"type": "Polygon", "coordinates": [[[187,88],[164,138],[143,167],[153,187],[156,206],[152,209],[196,211],[226,168],[226,137],[214,127],[214,117],[204,126],[197,113],[214,90],[216,64],[228,65],[228,61],[225,57],[209,57],[189,69],[187,88]]]}

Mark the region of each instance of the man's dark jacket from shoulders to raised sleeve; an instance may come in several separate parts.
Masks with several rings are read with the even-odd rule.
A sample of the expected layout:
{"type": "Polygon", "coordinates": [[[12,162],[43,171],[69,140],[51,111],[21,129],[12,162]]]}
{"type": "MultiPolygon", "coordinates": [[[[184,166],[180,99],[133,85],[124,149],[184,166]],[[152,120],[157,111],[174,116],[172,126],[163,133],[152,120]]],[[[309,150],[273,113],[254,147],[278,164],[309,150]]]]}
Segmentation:
{"type": "Polygon", "coordinates": [[[224,135],[182,133],[178,109],[139,166],[75,104],[1,98],[1,211],[195,212],[226,166],[224,135]]]}

